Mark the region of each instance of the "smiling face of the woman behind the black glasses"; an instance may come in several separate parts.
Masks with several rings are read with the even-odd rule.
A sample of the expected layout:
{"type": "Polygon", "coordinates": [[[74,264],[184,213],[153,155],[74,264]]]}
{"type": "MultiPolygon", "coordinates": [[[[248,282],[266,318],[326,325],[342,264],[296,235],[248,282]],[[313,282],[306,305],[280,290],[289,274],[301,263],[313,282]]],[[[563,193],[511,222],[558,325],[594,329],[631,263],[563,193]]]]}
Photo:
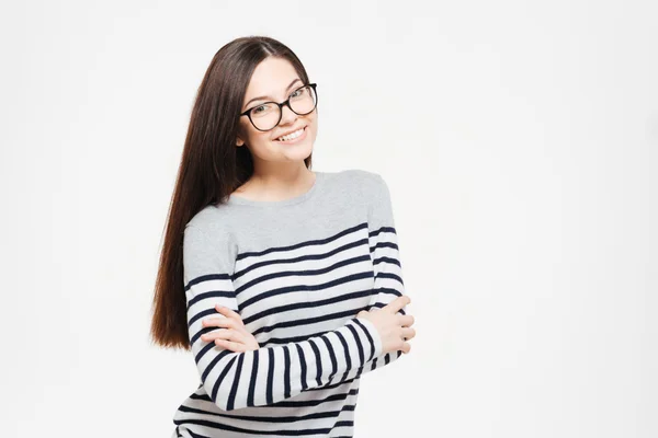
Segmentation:
{"type": "MultiPolygon", "coordinates": [[[[304,85],[291,62],[276,57],[261,61],[251,77],[240,113],[265,102],[281,103],[304,85]]],[[[262,107],[257,110],[262,111],[262,107]]],[[[256,129],[248,116],[240,117],[236,145],[251,152],[254,166],[265,168],[272,163],[296,162],[313,151],[317,135],[317,108],[307,115],[297,115],[287,105],[281,108],[281,122],[268,131],[256,129]],[[280,141],[280,137],[304,128],[296,139],[280,141]]],[[[257,122],[258,123],[258,122],[257,122]]]]}

